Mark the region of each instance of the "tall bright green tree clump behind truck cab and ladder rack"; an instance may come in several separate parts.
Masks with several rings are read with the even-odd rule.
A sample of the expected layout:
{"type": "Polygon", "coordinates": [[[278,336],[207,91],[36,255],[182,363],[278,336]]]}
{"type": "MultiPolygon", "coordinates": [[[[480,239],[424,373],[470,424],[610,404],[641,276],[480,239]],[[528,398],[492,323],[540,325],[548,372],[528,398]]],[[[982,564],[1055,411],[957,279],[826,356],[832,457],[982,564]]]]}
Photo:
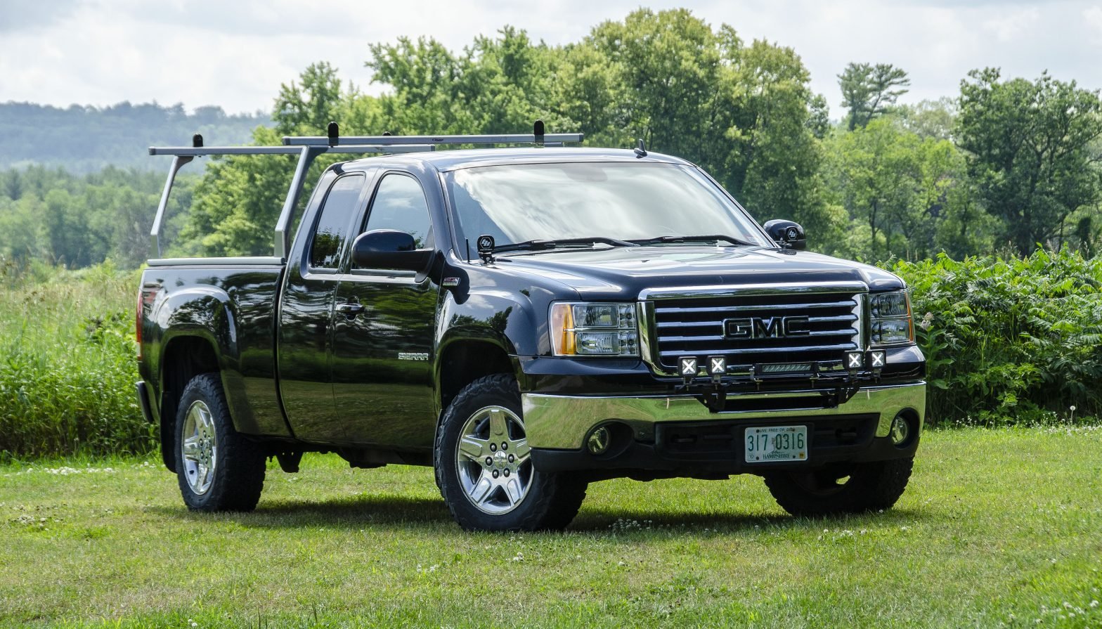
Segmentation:
{"type": "MultiPolygon", "coordinates": [[[[552,131],[584,130],[588,145],[626,148],[642,138],[714,173],[761,219],[792,218],[818,234],[834,228],[819,175],[825,105],[791,48],[746,45],[730,26],[713,30],[688,10],[640,9],[565,46],[533,43],[507,26],[460,54],[424,37],[370,52],[374,79],[390,91],[344,90],[331,66],[312,65],[299,85],[282,86],[277,132],[317,134],[337,120],[344,134],[501,133],[542,119],[552,131]]],[[[290,167],[258,161],[226,159],[208,170],[185,247],[270,250],[290,167]]]]}

